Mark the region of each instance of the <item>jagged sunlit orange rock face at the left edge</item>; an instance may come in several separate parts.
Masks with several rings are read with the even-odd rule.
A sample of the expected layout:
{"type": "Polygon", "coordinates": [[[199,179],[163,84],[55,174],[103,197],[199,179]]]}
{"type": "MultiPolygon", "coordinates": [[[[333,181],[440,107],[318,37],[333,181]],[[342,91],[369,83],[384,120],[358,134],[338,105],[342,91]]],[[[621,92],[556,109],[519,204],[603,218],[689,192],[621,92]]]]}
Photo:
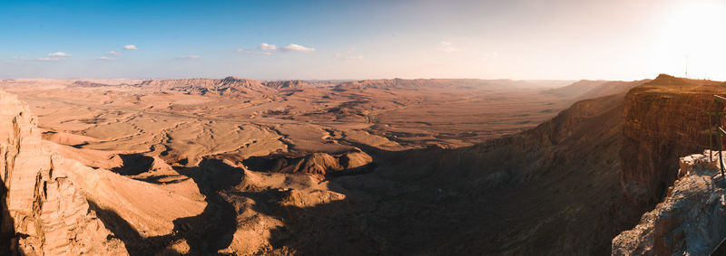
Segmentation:
{"type": "MultiPolygon", "coordinates": [[[[56,156],[57,157],[57,156],[56,156]]],[[[26,255],[128,254],[44,150],[25,103],[0,91],[2,234],[26,255]]]]}

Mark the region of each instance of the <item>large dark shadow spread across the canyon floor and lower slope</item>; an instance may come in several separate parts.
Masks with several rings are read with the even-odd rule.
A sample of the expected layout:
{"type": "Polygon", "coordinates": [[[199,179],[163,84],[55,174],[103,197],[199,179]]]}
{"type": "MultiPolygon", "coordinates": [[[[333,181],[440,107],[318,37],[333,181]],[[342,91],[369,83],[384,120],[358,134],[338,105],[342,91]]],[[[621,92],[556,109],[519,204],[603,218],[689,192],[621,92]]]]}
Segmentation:
{"type": "MultiPolygon", "coordinates": [[[[173,232],[159,237],[144,239],[115,213],[98,211],[132,255],[173,253],[165,248],[182,239],[191,254],[228,247],[239,223],[224,194],[249,198],[252,210],[282,222],[270,231],[270,251],[261,251],[271,254],[603,254],[615,234],[637,221],[618,213],[616,154],[525,156],[511,146],[514,140],[396,152],[356,145],[374,163],[358,170],[365,172],[327,176],[329,190],[346,198],[309,207],[283,204],[289,189],[240,191],[242,169],[204,159],[175,169],[198,185],[207,207],[175,220],[173,232]],[[589,232],[596,229],[602,232],[589,232]]],[[[619,145],[596,147],[609,152],[619,145]]]]}

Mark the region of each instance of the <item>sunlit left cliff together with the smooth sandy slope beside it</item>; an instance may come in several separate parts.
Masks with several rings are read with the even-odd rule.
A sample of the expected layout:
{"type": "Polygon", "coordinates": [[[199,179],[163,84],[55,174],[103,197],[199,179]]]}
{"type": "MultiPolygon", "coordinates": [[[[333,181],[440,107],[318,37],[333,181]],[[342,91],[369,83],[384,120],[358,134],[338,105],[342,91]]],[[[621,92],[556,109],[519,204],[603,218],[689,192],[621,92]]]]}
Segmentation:
{"type": "MultiPolygon", "coordinates": [[[[36,122],[24,102],[0,91],[0,238],[8,244],[0,253],[124,255],[130,245],[117,239],[115,231],[164,237],[173,232],[173,221],[204,210],[196,187],[179,194],[173,186],[60,156],[51,151],[60,146],[44,141],[36,122]]],[[[167,245],[172,246],[159,246],[167,245]]]]}

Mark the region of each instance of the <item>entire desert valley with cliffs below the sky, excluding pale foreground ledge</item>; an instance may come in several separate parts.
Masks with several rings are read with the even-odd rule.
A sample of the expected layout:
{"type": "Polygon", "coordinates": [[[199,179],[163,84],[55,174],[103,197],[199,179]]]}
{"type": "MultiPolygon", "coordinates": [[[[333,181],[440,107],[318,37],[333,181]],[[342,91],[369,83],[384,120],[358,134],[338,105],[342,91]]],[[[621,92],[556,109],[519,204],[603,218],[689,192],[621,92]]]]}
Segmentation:
{"type": "Polygon", "coordinates": [[[131,255],[636,250],[613,237],[708,147],[692,113],[726,91],[668,75],[0,87],[8,250],[131,255]]]}

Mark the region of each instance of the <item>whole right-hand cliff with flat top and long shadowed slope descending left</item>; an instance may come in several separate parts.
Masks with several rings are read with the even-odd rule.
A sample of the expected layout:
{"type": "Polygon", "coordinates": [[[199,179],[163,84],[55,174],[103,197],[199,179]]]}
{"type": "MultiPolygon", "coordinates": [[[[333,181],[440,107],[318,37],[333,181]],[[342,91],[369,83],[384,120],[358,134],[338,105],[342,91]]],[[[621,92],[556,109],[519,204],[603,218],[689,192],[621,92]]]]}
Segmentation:
{"type": "MultiPolygon", "coordinates": [[[[627,86],[638,84],[624,97],[579,101],[515,136],[389,154],[387,160],[399,166],[388,176],[478,194],[478,204],[496,205],[495,211],[474,210],[489,221],[460,216],[471,228],[461,226],[441,241],[477,237],[467,250],[492,254],[606,253],[615,235],[662,200],[676,180],[679,156],[707,147],[700,134],[708,126],[703,113],[713,94],[726,93],[721,82],[667,75],[627,86]]],[[[447,206],[454,207],[461,206],[447,206]]]]}

